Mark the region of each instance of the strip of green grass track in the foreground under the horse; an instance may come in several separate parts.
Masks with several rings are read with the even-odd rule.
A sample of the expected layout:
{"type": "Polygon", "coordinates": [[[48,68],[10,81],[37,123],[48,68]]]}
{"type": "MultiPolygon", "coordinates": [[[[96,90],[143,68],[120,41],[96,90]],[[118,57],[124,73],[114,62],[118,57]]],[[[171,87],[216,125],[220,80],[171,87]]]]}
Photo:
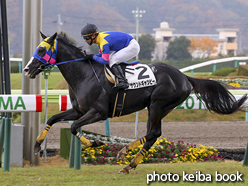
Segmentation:
{"type": "Polygon", "coordinates": [[[80,185],[80,186],[129,186],[147,185],[147,174],[174,173],[180,175],[179,182],[152,182],[150,185],[248,185],[248,167],[243,167],[241,162],[208,162],[208,163],[175,163],[175,164],[141,164],[130,174],[118,174],[125,165],[82,165],[80,170],[69,169],[68,161],[62,165],[41,163],[39,167],[11,168],[10,172],[0,171],[1,185],[80,185]],[[182,181],[183,171],[187,174],[195,174],[201,171],[203,174],[211,174],[212,182],[186,182],[182,181]],[[215,171],[220,174],[243,174],[243,182],[216,182],[215,171]]]}

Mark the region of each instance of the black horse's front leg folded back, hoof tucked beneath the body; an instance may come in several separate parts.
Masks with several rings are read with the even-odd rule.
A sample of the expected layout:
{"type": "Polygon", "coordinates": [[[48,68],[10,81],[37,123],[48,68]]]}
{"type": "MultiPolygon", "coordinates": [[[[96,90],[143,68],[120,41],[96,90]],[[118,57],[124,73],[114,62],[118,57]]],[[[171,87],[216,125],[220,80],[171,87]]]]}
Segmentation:
{"type": "Polygon", "coordinates": [[[98,111],[92,108],[71,125],[71,133],[75,135],[86,147],[98,147],[104,145],[104,143],[99,140],[91,142],[90,140],[86,139],[80,132],[78,132],[77,129],[84,125],[95,123],[97,121],[105,119],[107,119],[107,114],[100,114],[98,111]]]}

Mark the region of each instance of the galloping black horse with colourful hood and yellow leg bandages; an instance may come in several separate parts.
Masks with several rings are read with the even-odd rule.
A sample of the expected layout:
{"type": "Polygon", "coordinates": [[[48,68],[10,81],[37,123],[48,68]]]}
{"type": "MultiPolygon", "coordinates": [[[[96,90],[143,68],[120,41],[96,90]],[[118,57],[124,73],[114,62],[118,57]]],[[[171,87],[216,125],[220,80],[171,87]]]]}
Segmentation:
{"type": "MultiPolygon", "coordinates": [[[[41,33],[41,36],[44,41],[36,49],[24,72],[29,78],[35,78],[51,64],[58,65],[68,83],[73,108],[56,114],[48,120],[46,127],[37,138],[35,154],[39,152],[40,145],[50,127],[56,122],[65,120],[75,120],[71,125],[71,133],[84,145],[92,147],[102,145],[100,141],[87,140],[77,132],[77,129],[112,117],[118,90],[114,89],[113,83],[106,78],[104,65],[83,60],[85,54],[65,34],[55,33],[47,38],[41,33]]],[[[128,151],[144,143],[143,148],[131,163],[119,171],[121,173],[128,173],[140,163],[156,139],[161,136],[161,120],[181,104],[191,91],[203,100],[208,110],[218,114],[232,114],[240,110],[247,99],[247,95],[244,95],[236,101],[220,83],[188,77],[165,63],[152,63],[149,66],[156,77],[156,85],[125,90],[126,96],[121,115],[147,107],[148,121],[146,135],[125,146],[117,155],[117,158],[124,158],[128,151]]]]}

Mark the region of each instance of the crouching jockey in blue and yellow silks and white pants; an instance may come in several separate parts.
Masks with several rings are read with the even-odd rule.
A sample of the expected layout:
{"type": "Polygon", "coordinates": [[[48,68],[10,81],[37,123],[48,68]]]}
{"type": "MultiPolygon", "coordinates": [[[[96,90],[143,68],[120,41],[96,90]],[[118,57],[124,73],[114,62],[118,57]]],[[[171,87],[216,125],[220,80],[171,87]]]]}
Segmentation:
{"type": "Polygon", "coordinates": [[[98,63],[108,64],[118,80],[116,87],[128,88],[129,84],[119,64],[138,55],[140,51],[138,42],[132,36],[123,32],[99,33],[96,25],[89,23],[81,30],[81,36],[88,45],[96,43],[99,48],[99,54],[86,55],[85,59],[94,59],[98,63]],[[113,52],[110,54],[111,51],[113,52]]]}

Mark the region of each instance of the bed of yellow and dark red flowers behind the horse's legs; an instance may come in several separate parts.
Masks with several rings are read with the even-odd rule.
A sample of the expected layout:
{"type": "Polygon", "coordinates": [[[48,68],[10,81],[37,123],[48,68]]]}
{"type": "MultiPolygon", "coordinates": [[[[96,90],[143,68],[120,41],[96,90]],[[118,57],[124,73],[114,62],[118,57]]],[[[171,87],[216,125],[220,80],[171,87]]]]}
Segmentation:
{"type": "MultiPolygon", "coordinates": [[[[114,140],[112,140],[114,141],[114,140]]],[[[101,147],[82,148],[83,163],[86,164],[129,164],[143,147],[140,145],[129,152],[125,160],[116,160],[116,155],[125,144],[106,144],[101,147]]],[[[218,156],[218,150],[213,147],[193,144],[184,144],[183,141],[177,143],[169,142],[166,138],[159,138],[148,151],[141,163],[181,163],[181,162],[205,162],[224,161],[218,156]]]]}

